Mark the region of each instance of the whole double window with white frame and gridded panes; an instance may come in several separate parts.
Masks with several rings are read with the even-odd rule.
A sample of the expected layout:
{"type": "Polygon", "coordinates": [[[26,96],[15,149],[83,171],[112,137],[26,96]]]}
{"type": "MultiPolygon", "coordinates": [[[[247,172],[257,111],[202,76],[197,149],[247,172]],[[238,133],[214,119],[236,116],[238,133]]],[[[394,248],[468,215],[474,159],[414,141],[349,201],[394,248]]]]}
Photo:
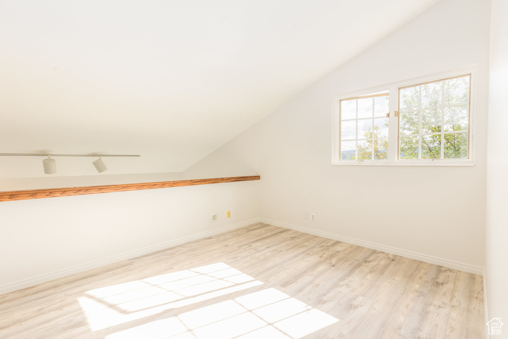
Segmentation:
{"type": "Polygon", "coordinates": [[[473,165],[473,75],[449,72],[337,97],[332,164],[473,165]]]}

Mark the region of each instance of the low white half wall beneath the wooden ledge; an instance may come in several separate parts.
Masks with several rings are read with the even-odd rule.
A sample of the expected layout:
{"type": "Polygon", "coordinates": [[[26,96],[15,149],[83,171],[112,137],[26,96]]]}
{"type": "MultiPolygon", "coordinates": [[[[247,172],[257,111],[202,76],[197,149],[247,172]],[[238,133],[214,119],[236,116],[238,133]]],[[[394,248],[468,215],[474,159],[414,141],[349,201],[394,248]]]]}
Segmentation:
{"type": "Polygon", "coordinates": [[[248,225],[259,182],[2,202],[0,294],[248,225]]]}

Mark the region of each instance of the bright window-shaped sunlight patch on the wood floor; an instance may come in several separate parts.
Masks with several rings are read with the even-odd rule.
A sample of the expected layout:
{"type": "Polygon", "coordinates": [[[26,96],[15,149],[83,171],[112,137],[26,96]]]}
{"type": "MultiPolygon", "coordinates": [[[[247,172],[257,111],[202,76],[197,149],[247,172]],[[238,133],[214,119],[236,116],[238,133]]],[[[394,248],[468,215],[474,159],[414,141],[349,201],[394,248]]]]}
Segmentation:
{"type": "MultiPolygon", "coordinates": [[[[89,327],[97,331],[262,284],[216,263],[90,290],[78,300],[89,327]]],[[[275,288],[166,316],[106,339],[298,339],[338,321],[275,288]]]]}

